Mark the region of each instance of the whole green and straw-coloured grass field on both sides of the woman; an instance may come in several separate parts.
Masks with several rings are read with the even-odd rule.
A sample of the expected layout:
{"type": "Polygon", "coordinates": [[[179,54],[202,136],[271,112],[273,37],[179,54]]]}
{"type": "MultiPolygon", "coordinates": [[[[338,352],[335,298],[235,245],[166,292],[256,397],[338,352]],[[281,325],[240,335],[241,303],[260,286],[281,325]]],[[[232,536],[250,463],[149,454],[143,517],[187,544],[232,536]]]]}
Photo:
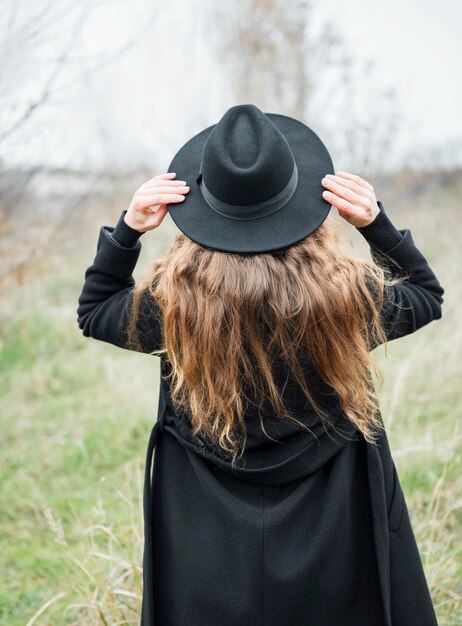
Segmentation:
{"type": "MultiPolygon", "coordinates": [[[[441,320],[390,342],[387,358],[375,351],[382,414],[442,626],[462,625],[460,190],[433,190],[405,215],[384,203],[399,228],[411,228],[446,292],[441,320]]],[[[139,624],[158,360],[77,327],[100,223],[84,249],[50,254],[2,298],[0,623],[8,626],[139,624]]],[[[354,241],[365,249],[359,234],[354,241]]],[[[143,245],[135,277],[149,259],[143,245]]]]}

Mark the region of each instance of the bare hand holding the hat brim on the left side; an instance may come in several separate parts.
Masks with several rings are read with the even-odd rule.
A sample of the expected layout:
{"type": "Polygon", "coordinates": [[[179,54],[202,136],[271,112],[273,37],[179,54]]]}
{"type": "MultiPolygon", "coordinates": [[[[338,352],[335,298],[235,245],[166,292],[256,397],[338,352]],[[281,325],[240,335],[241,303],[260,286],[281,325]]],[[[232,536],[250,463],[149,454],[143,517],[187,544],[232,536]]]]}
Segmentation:
{"type": "Polygon", "coordinates": [[[175,176],[175,172],[159,174],[135,191],[124,218],[131,228],[141,233],[153,230],[167,215],[169,204],[183,202],[189,187],[184,180],[173,180],[175,176]]]}

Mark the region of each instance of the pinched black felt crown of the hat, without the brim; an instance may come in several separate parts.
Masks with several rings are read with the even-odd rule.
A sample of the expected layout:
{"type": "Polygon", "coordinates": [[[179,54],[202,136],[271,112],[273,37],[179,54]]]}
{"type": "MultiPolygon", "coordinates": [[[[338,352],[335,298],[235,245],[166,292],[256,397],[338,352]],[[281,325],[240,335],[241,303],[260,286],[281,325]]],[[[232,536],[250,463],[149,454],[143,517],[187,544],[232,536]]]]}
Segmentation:
{"type": "Polygon", "coordinates": [[[231,107],[204,145],[202,179],[220,201],[239,206],[265,202],[289,183],[295,158],[275,124],[255,105],[231,107]]]}

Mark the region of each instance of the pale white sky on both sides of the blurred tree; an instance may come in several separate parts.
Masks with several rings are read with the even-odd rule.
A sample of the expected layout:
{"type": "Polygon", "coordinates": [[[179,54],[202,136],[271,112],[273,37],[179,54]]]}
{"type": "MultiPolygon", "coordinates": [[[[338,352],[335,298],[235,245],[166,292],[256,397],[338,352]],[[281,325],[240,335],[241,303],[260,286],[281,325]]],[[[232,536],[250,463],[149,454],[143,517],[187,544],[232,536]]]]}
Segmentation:
{"type": "MultiPolygon", "coordinates": [[[[4,99],[14,85],[10,101],[6,95],[11,108],[2,107],[0,131],[40,93],[50,72],[44,59],[56,57],[67,43],[70,61],[49,104],[20,134],[0,143],[2,158],[58,166],[131,168],[152,163],[156,169],[167,168],[184,141],[215,123],[233,104],[226,77],[207,47],[204,16],[213,1],[93,3],[74,40],[61,21],[48,41],[34,49],[33,58],[14,42],[0,73],[4,99]],[[92,55],[111,53],[143,26],[145,32],[127,54],[94,67],[92,55]]],[[[42,4],[37,1],[34,7],[42,4]]],[[[64,0],[54,6],[61,5],[68,6],[64,0]]],[[[71,5],[66,14],[70,26],[84,5],[71,5]]],[[[400,154],[452,142],[454,147],[445,149],[447,160],[462,164],[462,2],[322,0],[315,13],[320,23],[334,21],[360,61],[374,62],[368,106],[375,106],[374,84],[377,106],[381,88],[398,90],[406,120],[400,154]]],[[[5,10],[0,18],[3,31],[8,15],[5,10]]]]}

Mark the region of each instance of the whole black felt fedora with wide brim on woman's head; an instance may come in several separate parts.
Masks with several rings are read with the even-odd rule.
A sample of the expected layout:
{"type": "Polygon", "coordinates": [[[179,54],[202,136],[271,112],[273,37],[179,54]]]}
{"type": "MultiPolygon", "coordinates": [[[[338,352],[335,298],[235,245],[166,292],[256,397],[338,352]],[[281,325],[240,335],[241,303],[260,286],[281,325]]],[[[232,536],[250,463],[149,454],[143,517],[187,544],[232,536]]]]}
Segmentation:
{"type": "Polygon", "coordinates": [[[194,135],[168,171],[190,187],[168,211],[206,248],[280,250],[316,230],[331,208],[321,180],[335,172],[321,139],[303,122],[253,104],[231,107],[194,135]]]}

